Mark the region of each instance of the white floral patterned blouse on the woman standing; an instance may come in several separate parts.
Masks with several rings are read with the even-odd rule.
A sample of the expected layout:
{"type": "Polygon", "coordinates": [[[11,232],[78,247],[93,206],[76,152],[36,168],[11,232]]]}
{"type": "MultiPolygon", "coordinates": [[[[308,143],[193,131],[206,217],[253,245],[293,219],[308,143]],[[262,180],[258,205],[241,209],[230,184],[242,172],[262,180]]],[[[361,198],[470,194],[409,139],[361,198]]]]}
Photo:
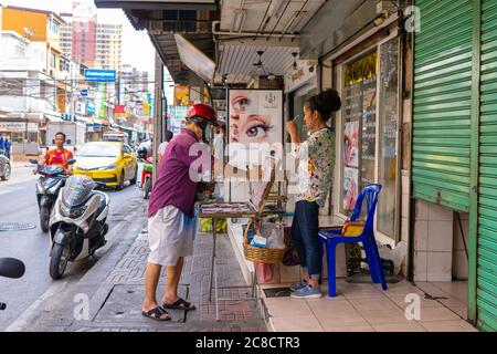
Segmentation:
{"type": "Polygon", "coordinates": [[[328,197],[335,166],[335,133],[330,128],[314,132],[296,149],[298,191],[295,201],[316,201],[324,207],[328,197]]]}

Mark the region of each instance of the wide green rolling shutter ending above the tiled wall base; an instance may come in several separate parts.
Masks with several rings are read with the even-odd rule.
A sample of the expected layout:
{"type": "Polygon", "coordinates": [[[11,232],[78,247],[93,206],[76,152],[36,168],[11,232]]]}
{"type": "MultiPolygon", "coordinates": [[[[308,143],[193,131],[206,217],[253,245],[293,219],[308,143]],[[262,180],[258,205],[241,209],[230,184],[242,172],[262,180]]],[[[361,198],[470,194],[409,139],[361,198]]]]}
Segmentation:
{"type": "Polygon", "coordinates": [[[417,0],[414,40],[413,196],[469,211],[473,64],[470,0],[417,0]]]}

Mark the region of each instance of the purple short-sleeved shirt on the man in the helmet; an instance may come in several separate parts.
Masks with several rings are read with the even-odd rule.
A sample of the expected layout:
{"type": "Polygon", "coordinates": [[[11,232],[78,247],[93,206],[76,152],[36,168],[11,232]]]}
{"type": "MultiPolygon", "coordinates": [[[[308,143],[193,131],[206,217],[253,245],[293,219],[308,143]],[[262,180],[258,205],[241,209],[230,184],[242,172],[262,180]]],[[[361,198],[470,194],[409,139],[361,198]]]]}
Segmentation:
{"type": "Polygon", "coordinates": [[[214,164],[214,157],[204,147],[195,149],[197,155],[190,156],[190,147],[195,143],[199,143],[197,135],[189,129],[181,129],[169,142],[159,164],[157,181],[148,204],[148,217],[155,216],[166,206],[177,207],[193,217],[197,181],[190,178],[190,168],[197,167],[198,171],[202,171],[214,164]]]}

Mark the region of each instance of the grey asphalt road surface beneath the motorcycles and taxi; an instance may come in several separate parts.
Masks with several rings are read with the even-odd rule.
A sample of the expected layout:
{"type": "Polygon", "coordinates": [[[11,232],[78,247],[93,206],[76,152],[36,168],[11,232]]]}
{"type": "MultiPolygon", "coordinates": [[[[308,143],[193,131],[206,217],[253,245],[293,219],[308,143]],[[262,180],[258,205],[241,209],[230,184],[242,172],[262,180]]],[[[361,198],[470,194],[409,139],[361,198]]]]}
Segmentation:
{"type": "MultiPolygon", "coordinates": [[[[33,176],[31,170],[32,167],[28,165],[15,164],[11,179],[0,181],[0,225],[28,222],[35,226],[34,229],[24,231],[0,231],[0,257],[18,258],[27,268],[21,279],[0,278],[0,302],[7,303],[7,309],[0,311],[0,331],[22,314],[54,282],[49,275],[49,236],[43,233],[39,226],[35,198],[38,177],[33,176]]],[[[128,184],[124,190],[105,191],[110,197],[110,220],[116,219],[130,200],[141,197],[140,191],[128,184]]],[[[109,221],[110,230],[113,223],[115,222],[109,221]]],[[[93,264],[89,259],[70,263],[61,281],[71,283],[78,280],[93,264]]]]}

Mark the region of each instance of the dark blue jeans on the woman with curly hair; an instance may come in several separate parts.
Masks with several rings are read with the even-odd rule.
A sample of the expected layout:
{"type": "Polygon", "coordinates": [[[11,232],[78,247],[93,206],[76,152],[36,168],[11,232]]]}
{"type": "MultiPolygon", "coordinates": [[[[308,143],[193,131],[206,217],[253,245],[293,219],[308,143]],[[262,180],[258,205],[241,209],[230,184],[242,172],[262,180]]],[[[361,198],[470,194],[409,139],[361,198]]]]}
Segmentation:
{"type": "Polygon", "coordinates": [[[321,252],[319,250],[319,206],[316,201],[299,200],[295,206],[292,222],[292,239],[297,249],[300,264],[311,279],[318,280],[321,273],[321,252]]]}

